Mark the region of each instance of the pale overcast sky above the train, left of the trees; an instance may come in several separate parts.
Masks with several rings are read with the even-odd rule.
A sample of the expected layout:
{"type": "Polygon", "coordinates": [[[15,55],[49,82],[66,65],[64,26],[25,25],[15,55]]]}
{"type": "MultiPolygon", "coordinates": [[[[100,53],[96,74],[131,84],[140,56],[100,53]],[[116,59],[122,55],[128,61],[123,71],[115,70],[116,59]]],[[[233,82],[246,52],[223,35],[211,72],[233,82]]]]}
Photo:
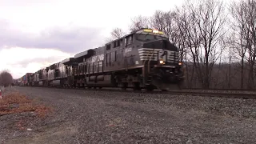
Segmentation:
{"type": "Polygon", "coordinates": [[[102,46],[130,18],[170,10],[183,0],[0,0],[0,70],[14,78],[102,46]]]}

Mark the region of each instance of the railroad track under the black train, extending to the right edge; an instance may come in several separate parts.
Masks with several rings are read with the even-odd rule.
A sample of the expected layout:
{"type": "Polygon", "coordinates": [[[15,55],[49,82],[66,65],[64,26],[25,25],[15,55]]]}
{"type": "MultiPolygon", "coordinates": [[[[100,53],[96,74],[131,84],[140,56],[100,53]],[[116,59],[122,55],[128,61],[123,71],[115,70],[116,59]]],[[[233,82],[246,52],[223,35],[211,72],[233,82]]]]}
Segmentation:
{"type": "Polygon", "coordinates": [[[64,88],[64,87],[44,87],[44,86],[34,86],[34,87],[42,87],[42,88],[55,88],[55,89],[68,89],[68,90],[97,90],[97,91],[115,91],[115,92],[131,92],[131,93],[141,93],[141,94],[176,94],[176,95],[190,95],[190,96],[204,96],[204,97],[218,97],[218,98],[243,98],[243,99],[256,99],[256,92],[245,93],[244,90],[228,90],[230,92],[223,92],[226,90],[154,90],[154,91],[146,91],[146,90],[121,90],[120,88],[102,88],[102,89],[87,89],[87,88],[64,88]]]}

